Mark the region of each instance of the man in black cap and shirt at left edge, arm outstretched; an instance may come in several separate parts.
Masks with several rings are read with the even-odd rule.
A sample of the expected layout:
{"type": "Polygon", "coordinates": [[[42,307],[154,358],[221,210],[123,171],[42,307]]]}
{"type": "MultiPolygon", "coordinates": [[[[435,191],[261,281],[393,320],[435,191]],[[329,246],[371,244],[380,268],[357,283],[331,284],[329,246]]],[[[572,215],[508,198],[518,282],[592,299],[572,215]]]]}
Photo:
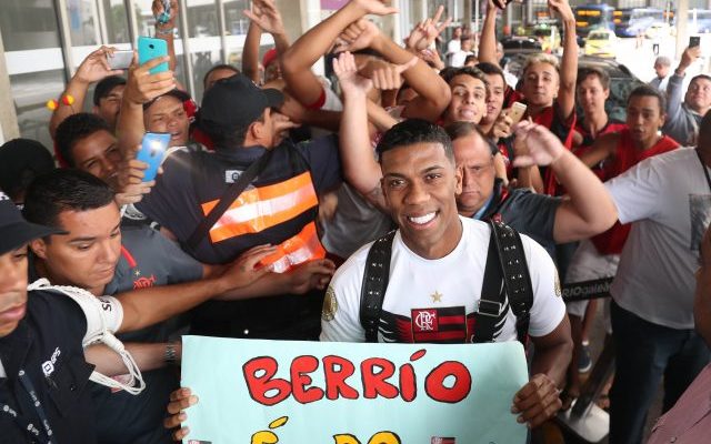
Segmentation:
{"type": "MultiPolygon", "coordinates": [[[[118,209],[116,213],[118,219],[118,209]]],[[[166,286],[102,296],[100,304],[87,302],[87,296],[93,297],[87,293],[87,303],[77,303],[38,284],[28,291],[28,243],[59,233],[27,222],[0,192],[2,442],[96,443],[89,376],[92,370],[117,374],[121,365],[103,346],[83,350],[84,340],[94,337],[101,325],[111,333],[143,329],[190,309],[220,287],[249,285],[263,274],[253,269],[253,261],[246,261],[207,284],[183,284],[179,296],[166,286]]]]}

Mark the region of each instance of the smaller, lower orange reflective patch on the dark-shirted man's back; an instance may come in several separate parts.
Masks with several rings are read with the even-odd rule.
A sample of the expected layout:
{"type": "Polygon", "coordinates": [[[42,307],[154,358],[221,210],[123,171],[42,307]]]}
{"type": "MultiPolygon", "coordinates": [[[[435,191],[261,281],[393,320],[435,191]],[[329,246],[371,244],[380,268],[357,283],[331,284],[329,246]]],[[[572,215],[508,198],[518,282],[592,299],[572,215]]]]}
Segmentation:
{"type": "Polygon", "coordinates": [[[279,244],[277,251],[262,259],[260,263],[270,265],[274,273],[283,273],[300,263],[323,258],[326,250],[319,241],[316,223],[310,222],[299,234],[279,244]]]}

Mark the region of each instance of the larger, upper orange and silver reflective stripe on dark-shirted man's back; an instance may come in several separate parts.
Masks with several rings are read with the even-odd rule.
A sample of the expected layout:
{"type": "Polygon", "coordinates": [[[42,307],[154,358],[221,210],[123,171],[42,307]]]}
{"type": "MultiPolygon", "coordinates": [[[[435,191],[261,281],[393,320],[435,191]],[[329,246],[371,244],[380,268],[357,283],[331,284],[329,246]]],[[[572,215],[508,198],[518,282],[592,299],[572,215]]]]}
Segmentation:
{"type": "MultiPolygon", "coordinates": [[[[202,204],[207,215],[219,200],[202,204]]],[[[210,240],[220,242],[248,233],[258,233],[287,222],[317,206],[319,200],[311,182],[311,173],[304,172],[273,185],[242,192],[210,229],[210,240]]]]}

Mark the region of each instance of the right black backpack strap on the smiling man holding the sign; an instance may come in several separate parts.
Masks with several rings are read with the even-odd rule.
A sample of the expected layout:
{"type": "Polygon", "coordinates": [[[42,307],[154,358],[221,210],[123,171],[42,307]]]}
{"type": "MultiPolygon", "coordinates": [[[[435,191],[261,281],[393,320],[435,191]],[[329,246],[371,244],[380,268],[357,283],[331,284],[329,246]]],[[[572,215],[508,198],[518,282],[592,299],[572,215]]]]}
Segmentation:
{"type": "Polygon", "coordinates": [[[529,273],[521,235],[502,222],[490,221],[493,239],[499,250],[499,262],[503,270],[503,284],[511,311],[515,316],[515,330],[519,341],[528,342],[531,306],[533,305],[533,285],[529,273]]]}

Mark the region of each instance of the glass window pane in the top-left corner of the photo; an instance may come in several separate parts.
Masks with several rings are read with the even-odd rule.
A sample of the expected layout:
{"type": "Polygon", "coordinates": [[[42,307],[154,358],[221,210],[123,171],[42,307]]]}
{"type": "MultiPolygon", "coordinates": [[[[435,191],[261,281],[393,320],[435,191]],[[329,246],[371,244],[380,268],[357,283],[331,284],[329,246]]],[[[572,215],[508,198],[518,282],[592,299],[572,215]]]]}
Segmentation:
{"type": "Polygon", "coordinates": [[[58,48],[59,33],[52,0],[4,0],[0,31],[6,51],[58,48]]]}

